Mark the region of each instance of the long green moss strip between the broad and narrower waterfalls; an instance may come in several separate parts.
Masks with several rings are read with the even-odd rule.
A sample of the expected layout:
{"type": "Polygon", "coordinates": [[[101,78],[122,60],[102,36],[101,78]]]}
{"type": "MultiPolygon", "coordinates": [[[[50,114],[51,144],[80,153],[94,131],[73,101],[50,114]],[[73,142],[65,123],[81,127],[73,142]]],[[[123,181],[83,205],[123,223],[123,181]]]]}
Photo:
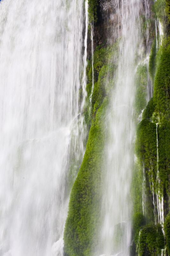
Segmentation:
{"type": "Polygon", "coordinates": [[[66,256],[89,256],[98,244],[99,233],[97,227],[100,222],[102,191],[100,186],[104,139],[107,132],[104,125],[108,105],[106,84],[109,84],[108,86],[113,85],[111,77],[113,77],[116,67],[112,58],[116,59],[117,47],[118,44],[116,43],[107,48],[101,46],[96,48],[93,58],[93,93],[92,60],[88,60],[86,69],[87,98],[84,115],[90,132],[84,159],[70,195],[68,217],[64,230],[66,256]],[[108,81],[110,82],[108,83],[108,81]],[[91,95],[91,112],[89,113],[91,95]]]}

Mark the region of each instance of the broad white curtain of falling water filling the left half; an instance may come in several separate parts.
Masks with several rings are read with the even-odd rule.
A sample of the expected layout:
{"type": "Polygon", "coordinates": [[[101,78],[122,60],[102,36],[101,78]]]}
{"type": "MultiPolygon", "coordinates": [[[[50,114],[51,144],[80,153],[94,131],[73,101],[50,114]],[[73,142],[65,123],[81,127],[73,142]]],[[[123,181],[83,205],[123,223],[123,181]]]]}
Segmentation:
{"type": "Polygon", "coordinates": [[[0,3],[0,255],[63,253],[69,156],[82,151],[82,6],[0,3]]]}

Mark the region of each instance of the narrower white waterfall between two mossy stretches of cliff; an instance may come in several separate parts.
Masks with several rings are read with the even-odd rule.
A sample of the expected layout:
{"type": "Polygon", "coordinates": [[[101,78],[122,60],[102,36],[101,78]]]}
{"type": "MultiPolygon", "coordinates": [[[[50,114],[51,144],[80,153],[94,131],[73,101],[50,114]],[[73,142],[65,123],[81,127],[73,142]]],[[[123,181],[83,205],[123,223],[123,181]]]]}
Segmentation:
{"type": "MultiPolygon", "coordinates": [[[[135,61],[139,52],[137,47],[140,46],[139,13],[143,5],[140,0],[118,2],[121,40],[116,83],[107,116],[110,135],[104,175],[101,253],[127,256],[131,239],[130,185],[134,162],[135,61]]],[[[138,58],[140,61],[140,56],[138,58]]]]}

